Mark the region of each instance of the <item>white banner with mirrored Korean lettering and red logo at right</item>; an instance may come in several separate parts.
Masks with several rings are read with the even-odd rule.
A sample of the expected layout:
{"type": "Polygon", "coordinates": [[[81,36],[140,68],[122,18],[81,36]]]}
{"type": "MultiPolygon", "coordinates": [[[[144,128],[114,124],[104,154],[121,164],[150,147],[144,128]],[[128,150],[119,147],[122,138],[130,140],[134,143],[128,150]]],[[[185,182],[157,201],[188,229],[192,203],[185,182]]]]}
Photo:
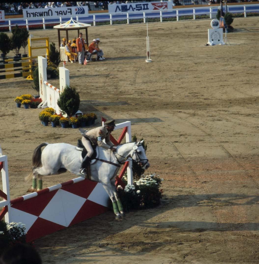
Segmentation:
{"type": "Polygon", "coordinates": [[[125,14],[136,12],[157,12],[167,11],[173,8],[173,2],[142,2],[142,3],[129,3],[129,4],[109,4],[109,13],[125,14]]]}

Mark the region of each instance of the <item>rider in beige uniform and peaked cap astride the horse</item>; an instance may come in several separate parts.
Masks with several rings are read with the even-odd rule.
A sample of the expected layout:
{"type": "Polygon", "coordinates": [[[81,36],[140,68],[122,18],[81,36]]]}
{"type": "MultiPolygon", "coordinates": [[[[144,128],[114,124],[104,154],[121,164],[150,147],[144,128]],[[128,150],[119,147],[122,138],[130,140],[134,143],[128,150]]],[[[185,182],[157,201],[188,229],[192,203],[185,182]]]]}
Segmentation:
{"type": "Polygon", "coordinates": [[[104,126],[86,131],[82,136],[82,143],[87,150],[87,154],[81,164],[81,174],[87,175],[86,168],[90,164],[91,156],[94,153],[91,143],[103,147],[104,149],[116,150],[115,146],[110,141],[110,133],[114,130],[114,127],[115,120],[109,120],[104,123],[104,126]],[[105,139],[106,143],[103,142],[103,139],[105,139]]]}

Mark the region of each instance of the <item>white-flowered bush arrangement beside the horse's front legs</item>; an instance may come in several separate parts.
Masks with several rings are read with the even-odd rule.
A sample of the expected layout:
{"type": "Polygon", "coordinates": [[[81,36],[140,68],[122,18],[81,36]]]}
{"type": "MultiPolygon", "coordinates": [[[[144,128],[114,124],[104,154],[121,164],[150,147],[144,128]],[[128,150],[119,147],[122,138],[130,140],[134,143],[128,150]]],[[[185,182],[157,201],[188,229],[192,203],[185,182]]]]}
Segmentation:
{"type": "MultiPolygon", "coordinates": [[[[122,180],[126,182],[127,178],[124,176],[122,180]]],[[[159,205],[163,193],[160,189],[162,181],[159,175],[151,174],[135,180],[133,185],[126,185],[124,190],[118,188],[124,210],[154,208],[159,205]]]]}

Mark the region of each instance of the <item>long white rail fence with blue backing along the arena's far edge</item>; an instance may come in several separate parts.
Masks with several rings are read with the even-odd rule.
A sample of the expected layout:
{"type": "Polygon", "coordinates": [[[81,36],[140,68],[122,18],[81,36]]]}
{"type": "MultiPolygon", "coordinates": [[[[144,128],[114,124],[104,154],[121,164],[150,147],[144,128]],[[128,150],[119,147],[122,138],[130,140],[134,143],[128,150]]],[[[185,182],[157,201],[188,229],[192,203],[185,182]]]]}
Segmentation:
{"type": "MultiPolygon", "coordinates": [[[[98,13],[98,14],[93,14],[92,19],[89,22],[89,18],[80,18],[80,22],[87,22],[87,23],[93,23],[94,26],[96,26],[96,22],[103,22],[103,21],[110,21],[110,25],[113,24],[113,21],[117,20],[127,20],[127,24],[129,24],[130,19],[143,19],[143,22],[146,23],[147,18],[160,18],[160,22],[163,22],[163,17],[168,18],[168,17],[176,17],[176,20],[179,21],[179,17],[181,16],[188,16],[192,15],[193,19],[196,19],[197,15],[209,15],[210,19],[214,14],[218,12],[218,9],[220,6],[202,6],[202,7],[194,7],[194,8],[174,8],[174,9],[168,9],[166,11],[152,11],[152,13],[139,13],[140,15],[136,16],[136,13],[134,13],[134,16],[132,13],[125,13],[125,17],[121,17],[122,15],[119,15],[116,13],[98,13]],[[183,12],[184,10],[184,12],[183,12]],[[149,14],[149,15],[147,15],[149,14]],[[96,16],[99,18],[97,19],[96,16]]],[[[225,6],[223,6],[223,9],[225,10],[225,6]]],[[[231,5],[228,6],[228,12],[230,13],[244,13],[244,17],[247,17],[247,13],[249,12],[258,12],[259,15],[259,4],[248,4],[248,5],[231,5]]],[[[78,21],[78,16],[76,16],[76,20],[78,21]]],[[[21,21],[21,18],[13,18],[11,19],[6,19],[5,21],[8,21],[8,25],[1,25],[0,26],[0,31],[2,27],[9,27],[9,31],[12,30],[12,27],[16,25],[15,21],[21,21]],[[14,22],[14,23],[13,23],[14,22]]],[[[63,21],[65,22],[65,21],[63,21]]],[[[18,23],[19,26],[26,26],[27,30],[29,30],[30,25],[43,25],[43,29],[46,29],[46,25],[48,24],[57,24],[58,21],[51,21],[51,22],[46,22],[44,18],[42,18],[42,22],[30,22],[26,19],[25,23],[18,23]]],[[[62,23],[62,17],[59,18],[59,23],[62,23]]]]}

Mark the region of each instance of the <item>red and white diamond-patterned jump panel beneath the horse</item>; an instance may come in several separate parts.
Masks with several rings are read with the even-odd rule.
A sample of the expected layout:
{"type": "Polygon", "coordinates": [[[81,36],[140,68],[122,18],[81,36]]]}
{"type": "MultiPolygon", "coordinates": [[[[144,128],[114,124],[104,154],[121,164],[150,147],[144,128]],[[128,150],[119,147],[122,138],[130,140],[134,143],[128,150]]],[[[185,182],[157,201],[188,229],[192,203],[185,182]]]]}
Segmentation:
{"type": "Polygon", "coordinates": [[[109,210],[101,183],[78,177],[11,200],[9,222],[26,226],[32,241],[109,210]]]}

